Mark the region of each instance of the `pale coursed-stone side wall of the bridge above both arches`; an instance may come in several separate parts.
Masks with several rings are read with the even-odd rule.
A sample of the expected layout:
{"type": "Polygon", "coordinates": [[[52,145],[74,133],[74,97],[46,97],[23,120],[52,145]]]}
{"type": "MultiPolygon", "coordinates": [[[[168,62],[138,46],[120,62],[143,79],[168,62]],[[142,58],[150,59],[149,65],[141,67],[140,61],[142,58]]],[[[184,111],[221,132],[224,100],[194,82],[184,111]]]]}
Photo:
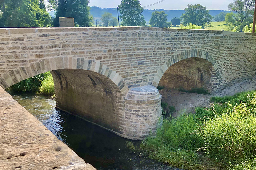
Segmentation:
{"type": "Polygon", "coordinates": [[[124,95],[130,87],[157,86],[170,65],[189,57],[212,63],[215,91],[255,75],[255,33],[109,27],[1,28],[0,34],[4,88],[49,70],[84,69],[81,61],[100,63],[120,76],[114,83],[124,95]]]}

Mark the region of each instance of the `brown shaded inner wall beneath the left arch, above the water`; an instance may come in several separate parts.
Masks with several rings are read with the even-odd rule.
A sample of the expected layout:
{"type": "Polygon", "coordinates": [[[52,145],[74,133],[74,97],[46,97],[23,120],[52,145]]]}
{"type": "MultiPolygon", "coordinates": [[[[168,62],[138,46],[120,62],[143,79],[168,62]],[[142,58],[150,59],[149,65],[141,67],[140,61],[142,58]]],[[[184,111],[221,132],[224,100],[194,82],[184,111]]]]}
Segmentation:
{"type": "Polygon", "coordinates": [[[122,134],[122,93],[110,78],[82,69],[51,73],[58,109],[122,134]]]}

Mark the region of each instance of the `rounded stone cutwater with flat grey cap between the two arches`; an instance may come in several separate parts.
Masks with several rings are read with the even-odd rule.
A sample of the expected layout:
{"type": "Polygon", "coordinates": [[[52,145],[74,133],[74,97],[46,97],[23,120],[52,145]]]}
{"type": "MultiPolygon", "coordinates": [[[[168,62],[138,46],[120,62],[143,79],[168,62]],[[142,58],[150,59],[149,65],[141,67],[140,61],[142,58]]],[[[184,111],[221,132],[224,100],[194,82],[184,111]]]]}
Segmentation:
{"type": "Polygon", "coordinates": [[[144,139],[156,134],[163,123],[161,99],[161,94],[151,85],[129,90],[125,98],[126,138],[144,139]]]}

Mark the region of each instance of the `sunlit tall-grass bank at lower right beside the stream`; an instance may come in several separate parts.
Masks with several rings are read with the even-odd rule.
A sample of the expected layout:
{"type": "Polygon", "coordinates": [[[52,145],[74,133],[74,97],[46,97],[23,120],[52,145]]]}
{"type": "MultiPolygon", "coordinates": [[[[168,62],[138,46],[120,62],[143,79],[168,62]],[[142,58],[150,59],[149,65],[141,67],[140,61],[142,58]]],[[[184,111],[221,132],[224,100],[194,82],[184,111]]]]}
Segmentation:
{"type": "Polygon", "coordinates": [[[256,92],[213,97],[210,108],[164,119],[140,152],[184,169],[256,169],[256,92]],[[217,104],[221,102],[222,104],[217,104]]]}

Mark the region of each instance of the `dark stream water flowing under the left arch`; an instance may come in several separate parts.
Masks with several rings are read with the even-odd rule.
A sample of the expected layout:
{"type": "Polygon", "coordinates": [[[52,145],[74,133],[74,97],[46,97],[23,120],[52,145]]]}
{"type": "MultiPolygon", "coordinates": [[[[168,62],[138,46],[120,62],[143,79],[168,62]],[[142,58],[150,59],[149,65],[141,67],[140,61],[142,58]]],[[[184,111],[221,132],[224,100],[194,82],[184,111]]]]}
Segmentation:
{"type": "MultiPolygon", "coordinates": [[[[11,93],[11,92],[9,92],[11,93]]],[[[55,100],[35,94],[12,97],[42,122],[58,139],[98,170],[178,170],[131,152],[131,141],[76,116],[55,109],[55,100]]],[[[138,145],[140,141],[132,141],[138,145]]]]}

